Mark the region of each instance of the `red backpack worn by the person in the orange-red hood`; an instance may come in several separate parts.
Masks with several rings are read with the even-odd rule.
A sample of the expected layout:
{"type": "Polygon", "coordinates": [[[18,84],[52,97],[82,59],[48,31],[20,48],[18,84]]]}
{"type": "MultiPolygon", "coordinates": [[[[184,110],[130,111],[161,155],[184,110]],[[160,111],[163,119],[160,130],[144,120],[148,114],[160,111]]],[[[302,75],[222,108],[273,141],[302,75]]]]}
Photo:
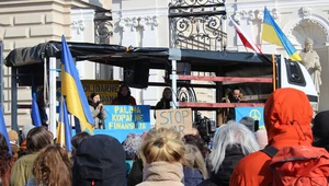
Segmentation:
{"type": "Polygon", "coordinates": [[[329,185],[329,154],[326,149],[295,146],[261,150],[272,158],[273,186],[329,185]]]}

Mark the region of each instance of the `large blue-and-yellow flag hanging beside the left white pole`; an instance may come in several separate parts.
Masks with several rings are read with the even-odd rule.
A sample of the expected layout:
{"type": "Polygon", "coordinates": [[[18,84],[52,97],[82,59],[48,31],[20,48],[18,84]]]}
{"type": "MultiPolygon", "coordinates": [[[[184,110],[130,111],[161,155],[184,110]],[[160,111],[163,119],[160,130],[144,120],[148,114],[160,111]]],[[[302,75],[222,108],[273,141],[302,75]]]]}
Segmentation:
{"type": "Polygon", "coordinates": [[[67,108],[79,121],[82,131],[93,133],[92,118],[82,84],[70,49],[61,36],[61,94],[66,96],[67,108]]]}

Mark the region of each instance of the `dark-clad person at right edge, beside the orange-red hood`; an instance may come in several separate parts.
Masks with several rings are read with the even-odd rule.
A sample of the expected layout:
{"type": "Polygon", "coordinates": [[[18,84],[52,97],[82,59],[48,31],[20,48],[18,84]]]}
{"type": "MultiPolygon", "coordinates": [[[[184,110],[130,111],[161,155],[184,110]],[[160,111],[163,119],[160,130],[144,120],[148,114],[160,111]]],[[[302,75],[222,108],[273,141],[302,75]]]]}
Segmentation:
{"type": "Polygon", "coordinates": [[[329,111],[320,112],[314,118],[311,128],[314,135],[314,147],[325,148],[329,152],[329,111]]]}

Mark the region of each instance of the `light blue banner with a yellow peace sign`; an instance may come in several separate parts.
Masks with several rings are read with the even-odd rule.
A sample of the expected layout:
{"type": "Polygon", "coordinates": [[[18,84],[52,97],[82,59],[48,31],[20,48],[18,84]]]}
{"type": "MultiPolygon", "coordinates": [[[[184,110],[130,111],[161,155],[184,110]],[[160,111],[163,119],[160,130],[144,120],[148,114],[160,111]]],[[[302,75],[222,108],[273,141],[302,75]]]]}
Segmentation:
{"type": "Polygon", "coordinates": [[[259,129],[265,129],[264,126],[264,118],[263,107],[236,107],[236,121],[239,121],[245,116],[249,116],[253,118],[254,120],[259,120],[259,129]]]}

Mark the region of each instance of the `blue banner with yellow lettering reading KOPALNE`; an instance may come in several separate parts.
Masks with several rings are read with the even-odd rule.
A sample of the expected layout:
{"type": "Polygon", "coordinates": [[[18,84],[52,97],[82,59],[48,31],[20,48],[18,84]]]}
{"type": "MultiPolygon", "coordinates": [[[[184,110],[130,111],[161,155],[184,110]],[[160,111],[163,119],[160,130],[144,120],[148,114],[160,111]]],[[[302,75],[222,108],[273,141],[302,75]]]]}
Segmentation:
{"type": "Polygon", "coordinates": [[[149,105],[106,105],[106,129],[150,129],[149,105]]]}

